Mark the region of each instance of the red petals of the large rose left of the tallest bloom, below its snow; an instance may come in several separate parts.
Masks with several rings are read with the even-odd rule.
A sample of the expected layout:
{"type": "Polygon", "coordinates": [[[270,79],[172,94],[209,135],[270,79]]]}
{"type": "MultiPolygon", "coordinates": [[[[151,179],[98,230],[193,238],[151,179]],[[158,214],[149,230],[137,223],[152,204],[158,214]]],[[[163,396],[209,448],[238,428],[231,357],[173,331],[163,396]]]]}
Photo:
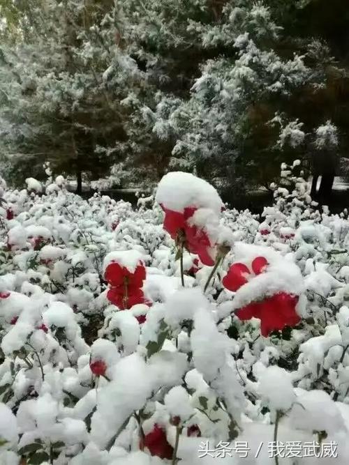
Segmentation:
{"type": "Polygon", "coordinates": [[[110,284],[107,299],[122,310],[144,303],[142,291],[145,267],[140,262],[132,272],[118,263],[111,263],[105,269],[105,280],[110,284]]]}

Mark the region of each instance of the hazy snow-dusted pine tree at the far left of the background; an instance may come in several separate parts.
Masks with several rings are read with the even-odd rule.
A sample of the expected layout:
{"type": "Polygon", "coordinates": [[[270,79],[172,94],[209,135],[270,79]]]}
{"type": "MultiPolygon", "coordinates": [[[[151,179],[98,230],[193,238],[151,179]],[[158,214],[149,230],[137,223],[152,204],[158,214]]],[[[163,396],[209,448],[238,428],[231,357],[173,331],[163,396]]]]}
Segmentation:
{"type": "MultiPolygon", "coordinates": [[[[142,73],[124,54],[107,0],[17,2],[1,46],[1,153],[8,174],[105,174],[126,137],[120,101],[142,73]]],[[[3,24],[6,28],[6,23],[3,24]]]]}

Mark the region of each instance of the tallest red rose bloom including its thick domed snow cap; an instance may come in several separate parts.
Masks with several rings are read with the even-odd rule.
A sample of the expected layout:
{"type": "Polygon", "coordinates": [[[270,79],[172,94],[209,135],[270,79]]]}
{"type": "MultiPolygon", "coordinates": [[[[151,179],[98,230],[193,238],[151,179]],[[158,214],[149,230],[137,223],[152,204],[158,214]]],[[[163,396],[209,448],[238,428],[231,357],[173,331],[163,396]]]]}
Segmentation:
{"type": "Polygon", "coordinates": [[[203,179],[174,171],[158,184],[156,200],[165,213],[163,229],[179,247],[198,254],[202,264],[214,265],[214,247],[223,202],[203,179]]]}

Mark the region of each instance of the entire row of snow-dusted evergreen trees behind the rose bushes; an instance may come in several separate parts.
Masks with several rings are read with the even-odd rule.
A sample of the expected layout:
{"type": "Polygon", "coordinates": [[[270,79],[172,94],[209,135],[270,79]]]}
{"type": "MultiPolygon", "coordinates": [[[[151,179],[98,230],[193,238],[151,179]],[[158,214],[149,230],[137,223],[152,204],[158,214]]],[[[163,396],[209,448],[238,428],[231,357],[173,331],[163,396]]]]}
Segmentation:
{"type": "MultiPolygon", "coordinates": [[[[180,169],[234,200],[302,160],[346,175],[343,0],[0,0],[0,162],[155,185],[180,169]]],[[[320,187],[316,180],[321,176],[320,187]]]]}

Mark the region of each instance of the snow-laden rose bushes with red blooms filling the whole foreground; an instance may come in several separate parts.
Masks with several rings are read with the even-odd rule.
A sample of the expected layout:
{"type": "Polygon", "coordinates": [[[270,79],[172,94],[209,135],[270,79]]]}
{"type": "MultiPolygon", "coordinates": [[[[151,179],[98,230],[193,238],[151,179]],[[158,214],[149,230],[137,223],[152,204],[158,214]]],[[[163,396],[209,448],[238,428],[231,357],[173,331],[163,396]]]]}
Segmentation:
{"type": "Polygon", "coordinates": [[[1,464],[347,463],[348,212],[298,165],[261,217],[181,172],[136,208],[4,188],[1,464]]]}

